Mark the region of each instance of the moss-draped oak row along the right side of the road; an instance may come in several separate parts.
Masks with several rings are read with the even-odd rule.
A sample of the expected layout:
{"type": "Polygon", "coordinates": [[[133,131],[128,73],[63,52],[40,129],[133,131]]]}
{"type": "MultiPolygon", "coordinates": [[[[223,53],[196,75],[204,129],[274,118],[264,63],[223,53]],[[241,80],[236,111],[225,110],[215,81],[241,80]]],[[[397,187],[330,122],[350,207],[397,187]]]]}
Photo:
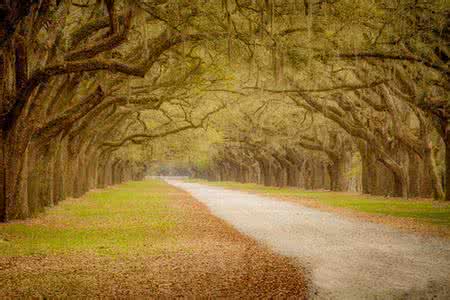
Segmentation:
{"type": "Polygon", "coordinates": [[[230,92],[258,104],[238,109],[199,176],[450,200],[448,3],[236,1],[229,11],[237,32],[248,22],[258,33],[245,43],[256,76],[230,92]]]}

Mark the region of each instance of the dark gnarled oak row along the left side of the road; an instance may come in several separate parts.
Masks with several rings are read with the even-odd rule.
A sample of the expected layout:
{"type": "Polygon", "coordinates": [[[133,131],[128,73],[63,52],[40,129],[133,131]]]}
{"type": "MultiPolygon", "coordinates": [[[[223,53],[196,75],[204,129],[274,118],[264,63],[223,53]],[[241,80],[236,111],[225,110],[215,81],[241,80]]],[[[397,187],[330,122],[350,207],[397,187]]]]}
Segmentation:
{"type": "Polygon", "coordinates": [[[219,78],[196,52],[197,3],[0,3],[0,221],[142,179],[149,140],[221,109],[192,90],[219,78]]]}

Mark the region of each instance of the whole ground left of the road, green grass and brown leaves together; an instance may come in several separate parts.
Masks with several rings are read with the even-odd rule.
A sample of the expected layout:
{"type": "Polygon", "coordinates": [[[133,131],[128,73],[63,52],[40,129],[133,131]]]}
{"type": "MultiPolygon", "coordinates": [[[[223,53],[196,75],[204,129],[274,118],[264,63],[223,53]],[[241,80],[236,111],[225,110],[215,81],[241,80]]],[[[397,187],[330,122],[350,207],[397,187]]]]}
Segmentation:
{"type": "Polygon", "coordinates": [[[305,298],[303,269],[156,180],[0,225],[0,295],[305,298]]]}

